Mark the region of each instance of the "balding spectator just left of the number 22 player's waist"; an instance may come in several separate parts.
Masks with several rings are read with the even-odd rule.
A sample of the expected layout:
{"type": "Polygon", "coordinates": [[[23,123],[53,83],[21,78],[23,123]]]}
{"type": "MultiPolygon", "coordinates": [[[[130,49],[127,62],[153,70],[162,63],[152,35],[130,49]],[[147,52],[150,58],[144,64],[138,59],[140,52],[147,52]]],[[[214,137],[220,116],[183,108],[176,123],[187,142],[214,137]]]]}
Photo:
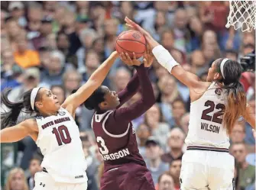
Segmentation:
{"type": "Polygon", "coordinates": [[[164,163],[171,163],[174,159],[182,159],[183,156],[183,131],[180,128],[173,128],[168,136],[167,145],[170,150],[161,156],[164,163]]]}

